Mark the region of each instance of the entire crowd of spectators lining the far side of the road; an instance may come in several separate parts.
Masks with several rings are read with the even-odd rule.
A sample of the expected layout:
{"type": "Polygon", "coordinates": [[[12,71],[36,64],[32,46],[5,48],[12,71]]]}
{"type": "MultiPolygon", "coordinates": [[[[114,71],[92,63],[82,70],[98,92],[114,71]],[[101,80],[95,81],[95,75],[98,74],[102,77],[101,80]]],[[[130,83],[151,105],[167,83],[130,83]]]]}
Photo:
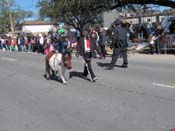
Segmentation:
{"type": "MultiPolygon", "coordinates": [[[[166,35],[164,28],[160,23],[152,23],[150,19],[146,24],[134,25],[131,21],[126,22],[128,30],[128,47],[138,44],[140,41],[149,43],[150,52],[154,54],[156,39],[161,38],[162,43],[166,43],[166,35]]],[[[175,19],[171,20],[169,25],[169,34],[175,34],[175,19]]],[[[105,58],[107,37],[104,27],[91,27],[89,35],[92,38],[93,57],[105,58]]],[[[66,48],[76,48],[81,32],[71,30],[69,28],[55,28],[48,33],[23,33],[12,36],[0,35],[0,50],[17,51],[17,52],[34,52],[47,54],[50,47],[57,52],[63,52],[66,48]]]]}

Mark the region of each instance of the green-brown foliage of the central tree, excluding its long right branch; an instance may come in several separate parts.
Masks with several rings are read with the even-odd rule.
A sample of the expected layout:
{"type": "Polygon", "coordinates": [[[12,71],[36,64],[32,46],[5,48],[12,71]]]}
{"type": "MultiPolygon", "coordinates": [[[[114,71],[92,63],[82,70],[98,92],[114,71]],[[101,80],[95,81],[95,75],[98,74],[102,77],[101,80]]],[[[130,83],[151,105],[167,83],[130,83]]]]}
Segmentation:
{"type": "MultiPolygon", "coordinates": [[[[52,21],[63,21],[76,29],[98,23],[108,2],[105,0],[43,0],[39,3],[40,16],[52,21]],[[47,12],[46,12],[47,10],[47,12]]],[[[107,0],[106,0],[107,1],[107,0]]]]}

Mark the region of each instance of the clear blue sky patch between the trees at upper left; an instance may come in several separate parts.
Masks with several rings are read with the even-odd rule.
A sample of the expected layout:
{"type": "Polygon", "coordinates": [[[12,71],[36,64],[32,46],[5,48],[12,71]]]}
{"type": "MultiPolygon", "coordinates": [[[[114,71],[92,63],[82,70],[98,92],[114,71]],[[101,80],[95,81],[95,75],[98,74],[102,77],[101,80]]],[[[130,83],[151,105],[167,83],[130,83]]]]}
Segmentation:
{"type": "Polygon", "coordinates": [[[38,0],[14,0],[17,6],[27,11],[32,11],[34,16],[30,20],[38,18],[38,8],[36,7],[38,0]]]}

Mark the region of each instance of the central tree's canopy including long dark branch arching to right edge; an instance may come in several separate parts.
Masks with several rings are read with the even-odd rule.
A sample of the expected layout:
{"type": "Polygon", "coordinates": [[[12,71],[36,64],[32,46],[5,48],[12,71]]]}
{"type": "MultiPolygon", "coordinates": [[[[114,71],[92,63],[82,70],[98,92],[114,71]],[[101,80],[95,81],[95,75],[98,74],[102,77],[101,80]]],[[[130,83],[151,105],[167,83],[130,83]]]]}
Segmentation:
{"type": "Polygon", "coordinates": [[[38,5],[41,18],[50,18],[54,22],[64,21],[81,30],[93,23],[100,13],[129,4],[175,7],[175,0],[41,0],[38,5]]]}

